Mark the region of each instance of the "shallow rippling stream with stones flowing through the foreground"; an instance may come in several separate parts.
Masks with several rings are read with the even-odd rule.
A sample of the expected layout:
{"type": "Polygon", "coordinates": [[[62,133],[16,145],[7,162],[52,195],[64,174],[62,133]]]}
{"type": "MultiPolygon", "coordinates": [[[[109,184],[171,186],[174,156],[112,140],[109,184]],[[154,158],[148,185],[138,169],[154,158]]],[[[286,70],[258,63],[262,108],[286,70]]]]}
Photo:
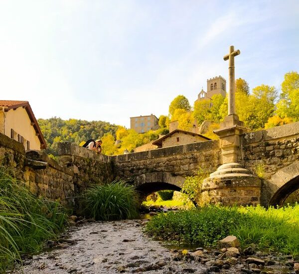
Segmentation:
{"type": "MultiPolygon", "coordinates": [[[[59,249],[34,256],[25,274],[205,273],[199,263],[175,262],[173,253],[142,233],[141,221],[86,223],[59,249]]],[[[14,273],[21,273],[14,272],[14,273]]]]}

